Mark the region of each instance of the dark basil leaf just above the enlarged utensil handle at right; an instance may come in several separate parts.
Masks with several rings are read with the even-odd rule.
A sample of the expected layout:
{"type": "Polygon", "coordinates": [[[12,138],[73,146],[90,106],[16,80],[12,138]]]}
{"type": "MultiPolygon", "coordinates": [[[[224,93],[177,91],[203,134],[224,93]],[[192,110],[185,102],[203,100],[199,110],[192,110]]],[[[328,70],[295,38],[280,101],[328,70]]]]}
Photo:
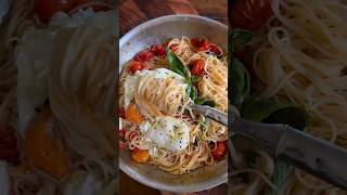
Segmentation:
{"type": "Polygon", "coordinates": [[[266,123],[286,123],[298,130],[305,130],[310,125],[310,116],[300,107],[290,106],[271,113],[261,121],[266,123]]]}

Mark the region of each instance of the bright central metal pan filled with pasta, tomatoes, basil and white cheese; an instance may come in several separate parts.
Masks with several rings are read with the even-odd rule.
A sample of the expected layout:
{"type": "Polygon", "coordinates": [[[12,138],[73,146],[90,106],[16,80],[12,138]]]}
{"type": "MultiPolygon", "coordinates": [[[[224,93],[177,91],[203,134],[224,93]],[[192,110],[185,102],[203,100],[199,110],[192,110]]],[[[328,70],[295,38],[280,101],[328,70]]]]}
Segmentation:
{"type": "Polygon", "coordinates": [[[147,186],[196,192],[228,180],[228,128],[190,108],[228,112],[228,27],[168,15],[119,41],[119,167],[147,186]]]}

